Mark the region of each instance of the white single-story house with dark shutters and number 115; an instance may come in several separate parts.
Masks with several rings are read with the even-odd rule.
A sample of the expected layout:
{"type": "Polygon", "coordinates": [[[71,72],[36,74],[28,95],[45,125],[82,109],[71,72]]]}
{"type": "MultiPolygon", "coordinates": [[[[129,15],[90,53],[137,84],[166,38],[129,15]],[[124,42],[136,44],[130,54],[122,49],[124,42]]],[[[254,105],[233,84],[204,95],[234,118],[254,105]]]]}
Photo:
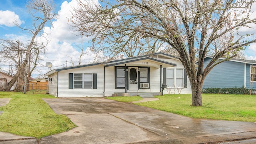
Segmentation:
{"type": "Polygon", "coordinates": [[[180,60],[162,52],[58,68],[44,76],[48,76],[49,94],[57,97],[167,94],[162,85],[172,91],[182,88],[182,94],[191,94],[190,82],[180,60]]]}

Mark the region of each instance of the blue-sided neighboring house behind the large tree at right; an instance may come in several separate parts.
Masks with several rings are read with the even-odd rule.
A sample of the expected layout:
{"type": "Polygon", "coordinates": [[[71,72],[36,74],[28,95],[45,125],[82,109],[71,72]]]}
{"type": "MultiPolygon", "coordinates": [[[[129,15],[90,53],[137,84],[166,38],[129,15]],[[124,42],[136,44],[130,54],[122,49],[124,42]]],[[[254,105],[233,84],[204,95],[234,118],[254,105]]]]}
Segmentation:
{"type": "MultiPolygon", "coordinates": [[[[204,67],[211,57],[206,56],[204,67]]],[[[231,59],[216,65],[206,76],[203,88],[245,87],[256,89],[256,61],[231,59]],[[251,86],[251,87],[250,87],[251,86]]]]}

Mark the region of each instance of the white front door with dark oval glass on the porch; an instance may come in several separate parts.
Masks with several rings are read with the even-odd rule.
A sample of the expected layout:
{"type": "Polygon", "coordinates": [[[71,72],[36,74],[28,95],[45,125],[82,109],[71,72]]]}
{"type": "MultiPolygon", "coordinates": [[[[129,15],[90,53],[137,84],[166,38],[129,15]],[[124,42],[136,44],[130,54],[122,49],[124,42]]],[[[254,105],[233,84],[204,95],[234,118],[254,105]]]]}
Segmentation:
{"type": "Polygon", "coordinates": [[[138,90],[138,67],[129,67],[129,90],[138,90]]]}

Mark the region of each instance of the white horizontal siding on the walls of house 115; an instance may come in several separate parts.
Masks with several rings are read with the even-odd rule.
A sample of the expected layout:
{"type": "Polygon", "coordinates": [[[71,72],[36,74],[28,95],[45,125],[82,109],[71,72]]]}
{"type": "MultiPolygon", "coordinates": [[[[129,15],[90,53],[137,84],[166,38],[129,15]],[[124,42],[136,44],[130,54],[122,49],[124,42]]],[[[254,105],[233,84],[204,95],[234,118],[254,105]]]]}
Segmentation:
{"type": "MultiPolygon", "coordinates": [[[[184,67],[182,66],[182,63],[175,58],[167,58],[163,57],[159,58],[161,60],[165,60],[168,62],[172,62],[174,64],[177,64],[176,68],[184,70],[184,67]]],[[[129,66],[139,67],[141,64],[137,65],[134,63],[129,63],[129,66]]],[[[158,63],[159,64],[159,63],[158,63]]],[[[122,65],[120,65],[122,66],[122,65]]],[[[138,89],[136,92],[160,92],[160,66],[158,65],[158,68],[156,67],[149,67],[148,69],[148,83],[150,83],[149,88],[143,88],[138,89]]],[[[142,72],[140,73],[140,81],[146,83],[146,72],[144,69],[142,69],[142,72]],[[145,76],[145,77],[144,77],[145,76]]],[[[57,89],[58,89],[58,97],[102,97],[102,96],[112,96],[114,92],[125,92],[125,89],[116,89],[115,88],[115,66],[106,66],[104,68],[103,64],[98,64],[94,66],[86,66],[86,67],[80,67],[80,68],[72,68],[67,70],[61,70],[59,72],[55,72],[54,74],[50,74],[49,77],[52,77],[52,82],[50,84],[49,82],[49,93],[57,96],[57,89]],[[104,69],[105,69],[105,76],[104,76],[104,69]],[[57,74],[58,73],[58,74],[57,74]],[[97,74],[97,89],[92,88],[85,88],[84,86],[82,89],[69,89],[69,74],[82,74],[82,77],[85,77],[84,74],[97,74]],[[57,81],[58,78],[58,81],[57,81]],[[105,83],[104,83],[105,79],[105,83]],[[58,82],[58,83],[57,83],[58,82]],[[57,87],[58,86],[58,87],[57,87]],[[104,89],[105,87],[105,89],[104,89]]],[[[73,77],[74,78],[74,77],[73,77]]],[[[120,77],[121,78],[121,77],[120,77]]],[[[163,68],[162,68],[162,78],[163,78],[163,68]]],[[[184,76],[177,76],[177,78],[180,78],[184,81],[184,76]]],[[[88,77],[82,79],[82,84],[86,85],[88,84],[94,85],[94,82],[90,81],[91,79],[88,77]],[[86,83],[86,84],[85,84],[86,83]],[[90,83],[90,84],[89,84],[90,83]]],[[[74,81],[74,79],[73,79],[74,81]]],[[[78,80],[80,81],[80,80],[78,80]]],[[[93,81],[93,79],[92,79],[93,81]]],[[[163,79],[162,79],[163,83],[163,79]]],[[[87,86],[86,86],[87,87],[87,86]]],[[[127,90],[127,92],[132,92],[127,90]]],[[[164,94],[167,92],[164,90],[164,94]]],[[[174,92],[172,92],[174,93],[174,92]]],[[[177,94],[178,92],[176,92],[177,94]]],[[[190,81],[187,78],[187,88],[182,89],[182,94],[191,94],[191,87],[190,87],[190,81]]]]}

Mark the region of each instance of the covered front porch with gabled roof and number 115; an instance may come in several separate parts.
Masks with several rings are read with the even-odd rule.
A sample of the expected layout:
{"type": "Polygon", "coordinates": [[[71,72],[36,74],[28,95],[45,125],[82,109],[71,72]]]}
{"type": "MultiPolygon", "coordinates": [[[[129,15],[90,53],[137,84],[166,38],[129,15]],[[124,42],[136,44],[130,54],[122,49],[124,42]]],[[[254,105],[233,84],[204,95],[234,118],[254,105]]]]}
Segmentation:
{"type": "Polygon", "coordinates": [[[115,89],[112,96],[150,98],[161,95],[162,68],[176,64],[146,56],[118,60],[104,66],[114,67],[115,89]]]}

